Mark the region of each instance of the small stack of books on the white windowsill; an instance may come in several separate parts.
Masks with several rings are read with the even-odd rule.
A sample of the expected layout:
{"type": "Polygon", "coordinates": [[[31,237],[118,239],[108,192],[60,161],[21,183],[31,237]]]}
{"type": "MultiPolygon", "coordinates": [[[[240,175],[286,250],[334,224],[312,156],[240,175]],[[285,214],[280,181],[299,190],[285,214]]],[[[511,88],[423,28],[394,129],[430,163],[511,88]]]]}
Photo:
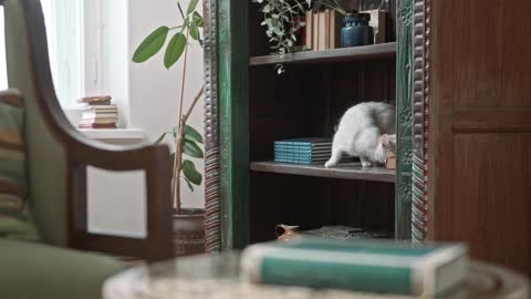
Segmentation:
{"type": "Polygon", "coordinates": [[[80,99],[87,105],[81,113],[80,128],[116,128],[118,109],[111,104],[111,96],[91,96],[80,99]]]}

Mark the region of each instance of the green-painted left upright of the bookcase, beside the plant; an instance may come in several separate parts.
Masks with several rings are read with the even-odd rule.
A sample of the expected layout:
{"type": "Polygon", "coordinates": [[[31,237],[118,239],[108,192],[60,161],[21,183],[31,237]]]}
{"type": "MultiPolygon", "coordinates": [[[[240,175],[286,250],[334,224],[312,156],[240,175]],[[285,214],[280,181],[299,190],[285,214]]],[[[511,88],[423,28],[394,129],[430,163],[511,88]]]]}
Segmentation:
{"type": "Polygon", "coordinates": [[[218,1],[222,248],[242,248],[249,243],[247,12],[248,1],[218,1]]]}

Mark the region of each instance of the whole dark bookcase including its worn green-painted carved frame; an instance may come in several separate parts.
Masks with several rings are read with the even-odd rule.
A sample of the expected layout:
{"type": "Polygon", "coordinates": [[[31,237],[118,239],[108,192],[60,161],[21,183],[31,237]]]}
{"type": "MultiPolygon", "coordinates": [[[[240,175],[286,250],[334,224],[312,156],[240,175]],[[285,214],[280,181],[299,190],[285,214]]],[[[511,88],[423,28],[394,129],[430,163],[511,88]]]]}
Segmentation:
{"type": "MultiPolygon", "coordinates": [[[[351,8],[362,3],[342,2],[351,8]]],[[[274,141],[332,137],[340,117],[357,103],[394,104],[397,118],[400,111],[410,113],[410,107],[400,103],[408,99],[403,92],[408,82],[397,80],[407,78],[405,65],[410,64],[407,54],[410,50],[400,50],[404,43],[400,45],[392,33],[381,44],[270,54],[264,28],[260,25],[263,14],[257,3],[236,0],[208,3],[209,9],[217,11],[217,19],[210,22],[218,25],[219,34],[211,38],[218,41],[219,49],[209,53],[217,55],[214,62],[218,64],[208,64],[207,59],[206,70],[218,70],[209,74],[212,82],[219,82],[211,85],[219,100],[207,100],[207,115],[214,113],[207,118],[207,125],[214,124],[207,128],[207,136],[209,132],[212,136],[219,132],[220,141],[214,140],[214,146],[209,147],[207,140],[207,147],[215,152],[219,145],[221,172],[219,195],[217,189],[207,189],[207,206],[210,202],[212,207],[220,206],[221,247],[241,248],[272,240],[278,224],[299,225],[303,230],[344,225],[408,238],[409,205],[397,197],[410,188],[407,167],[395,172],[351,163],[324,168],[272,161],[274,141]],[[282,75],[274,69],[279,63],[285,69],[282,75]],[[209,199],[209,195],[215,199],[209,199]]],[[[375,9],[381,3],[363,1],[363,9],[375,9]]],[[[409,29],[396,29],[399,19],[396,13],[409,16],[410,11],[397,10],[397,0],[389,3],[388,32],[409,34],[409,29]]],[[[410,118],[405,117],[404,125],[410,118]]],[[[406,136],[399,143],[409,140],[406,136]]],[[[398,158],[408,148],[398,148],[398,158]]],[[[214,162],[209,165],[216,166],[214,162]]],[[[400,163],[398,166],[403,166],[400,163]]]]}

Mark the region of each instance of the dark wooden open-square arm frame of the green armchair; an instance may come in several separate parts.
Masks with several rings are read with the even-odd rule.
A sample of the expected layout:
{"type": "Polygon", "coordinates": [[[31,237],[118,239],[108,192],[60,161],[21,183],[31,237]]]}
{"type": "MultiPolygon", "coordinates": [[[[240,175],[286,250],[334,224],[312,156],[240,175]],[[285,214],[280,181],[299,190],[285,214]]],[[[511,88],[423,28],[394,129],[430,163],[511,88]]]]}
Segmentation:
{"type": "MultiPolygon", "coordinates": [[[[86,140],[86,142],[92,142],[86,140]]],[[[104,144],[100,144],[104,145],[104,144]]],[[[116,146],[118,147],[118,146],[116,146]]],[[[71,181],[70,246],[118,256],[158,261],[173,257],[170,161],[167,146],[104,150],[86,145],[66,147],[71,181]],[[87,230],[86,166],[110,171],[145,171],[147,185],[147,238],[91,234],[87,230]]]]}

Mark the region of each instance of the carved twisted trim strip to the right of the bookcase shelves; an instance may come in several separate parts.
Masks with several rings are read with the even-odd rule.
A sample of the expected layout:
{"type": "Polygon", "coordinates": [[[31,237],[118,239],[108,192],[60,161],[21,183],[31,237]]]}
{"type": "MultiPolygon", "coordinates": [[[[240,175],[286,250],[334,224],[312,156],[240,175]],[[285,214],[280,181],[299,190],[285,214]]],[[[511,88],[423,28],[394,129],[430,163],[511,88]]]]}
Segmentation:
{"type": "Polygon", "coordinates": [[[415,0],[413,49],[412,241],[428,231],[429,41],[431,0],[415,0]]]}

